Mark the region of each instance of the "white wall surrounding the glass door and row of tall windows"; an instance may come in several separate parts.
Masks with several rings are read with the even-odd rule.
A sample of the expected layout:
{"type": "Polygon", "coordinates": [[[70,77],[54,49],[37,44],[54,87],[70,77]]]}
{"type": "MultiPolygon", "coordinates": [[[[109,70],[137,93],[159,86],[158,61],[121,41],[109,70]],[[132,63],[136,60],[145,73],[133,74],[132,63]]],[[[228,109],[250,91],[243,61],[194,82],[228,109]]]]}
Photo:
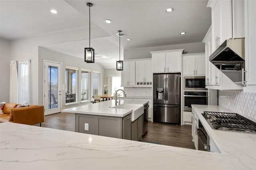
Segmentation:
{"type": "MultiPolygon", "coordinates": [[[[98,64],[98,63],[85,63],[84,59],[78,58],[78,57],[74,57],[71,55],[67,55],[64,53],[60,53],[57,51],[52,51],[50,49],[46,49],[44,47],[39,47],[38,48],[38,70],[40,70],[38,72],[38,94],[39,94],[39,100],[38,103],[39,104],[43,104],[43,88],[44,88],[44,82],[43,82],[43,72],[44,72],[44,60],[48,60],[48,61],[55,61],[55,62],[60,62],[62,63],[62,85],[65,85],[65,66],[74,66],[74,67],[79,67],[79,68],[86,68],[86,69],[90,69],[90,70],[97,70],[101,72],[100,75],[100,89],[99,92],[102,92],[103,89],[103,83],[104,83],[104,79],[105,79],[105,74],[104,74],[104,68],[98,64]]],[[[80,73],[78,73],[79,76],[80,73]]],[[[80,87],[77,87],[78,89],[80,89],[80,87]]],[[[63,95],[65,93],[62,92],[62,109],[66,109],[69,107],[75,107],[75,106],[79,106],[82,105],[81,103],[78,104],[72,104],[72,105],[68,105],[65,106],[65,95],[63,95]]],[[[78,100],[79,101],[79,100],[78,100]]]]}

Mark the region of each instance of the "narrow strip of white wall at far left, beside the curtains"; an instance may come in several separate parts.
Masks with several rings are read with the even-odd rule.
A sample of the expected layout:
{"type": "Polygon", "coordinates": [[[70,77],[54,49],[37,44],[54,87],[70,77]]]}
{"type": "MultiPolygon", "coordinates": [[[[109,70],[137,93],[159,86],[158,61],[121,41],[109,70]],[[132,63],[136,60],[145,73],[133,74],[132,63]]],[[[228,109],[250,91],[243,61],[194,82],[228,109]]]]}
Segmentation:
{"type": "Polygon", "coordinates": [[[10,41],[0,39],[0,102],[10,102],[10,41]]]}

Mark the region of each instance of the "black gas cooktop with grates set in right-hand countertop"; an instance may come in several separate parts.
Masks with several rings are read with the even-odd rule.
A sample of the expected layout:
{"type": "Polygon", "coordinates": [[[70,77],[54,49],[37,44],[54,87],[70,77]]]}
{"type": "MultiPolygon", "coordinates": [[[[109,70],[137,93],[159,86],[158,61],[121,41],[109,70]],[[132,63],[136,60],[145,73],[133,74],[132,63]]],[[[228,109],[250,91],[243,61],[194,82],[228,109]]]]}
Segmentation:
{"type": "Polygon", "coordinates": [[[202,115],[212,129],[256,134],[256,123],[238,113],[204,111],[202,115]]]}

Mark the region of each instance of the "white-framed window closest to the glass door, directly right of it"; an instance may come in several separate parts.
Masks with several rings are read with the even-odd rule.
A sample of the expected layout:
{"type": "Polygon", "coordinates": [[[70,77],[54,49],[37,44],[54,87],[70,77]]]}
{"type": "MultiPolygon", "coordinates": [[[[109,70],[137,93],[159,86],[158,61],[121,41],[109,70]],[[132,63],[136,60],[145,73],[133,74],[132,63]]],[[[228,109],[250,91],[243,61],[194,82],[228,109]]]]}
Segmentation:
{"type": "Polygon", "coordinates": [[[66,66],[65,84],[66,84],[66,103],[76,102],[77,94],[77,67],[66,66]]]}

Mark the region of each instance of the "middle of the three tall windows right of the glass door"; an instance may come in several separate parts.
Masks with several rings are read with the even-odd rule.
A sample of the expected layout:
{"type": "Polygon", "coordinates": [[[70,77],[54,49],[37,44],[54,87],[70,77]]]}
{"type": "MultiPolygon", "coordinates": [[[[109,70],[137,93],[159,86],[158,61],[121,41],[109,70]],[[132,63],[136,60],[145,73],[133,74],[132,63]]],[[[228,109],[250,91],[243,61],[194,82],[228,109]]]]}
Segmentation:
{"type": "Polygon", "coordinates": [[[81,101],[89,100],[91,70],[81,68],[81,101]]]}

